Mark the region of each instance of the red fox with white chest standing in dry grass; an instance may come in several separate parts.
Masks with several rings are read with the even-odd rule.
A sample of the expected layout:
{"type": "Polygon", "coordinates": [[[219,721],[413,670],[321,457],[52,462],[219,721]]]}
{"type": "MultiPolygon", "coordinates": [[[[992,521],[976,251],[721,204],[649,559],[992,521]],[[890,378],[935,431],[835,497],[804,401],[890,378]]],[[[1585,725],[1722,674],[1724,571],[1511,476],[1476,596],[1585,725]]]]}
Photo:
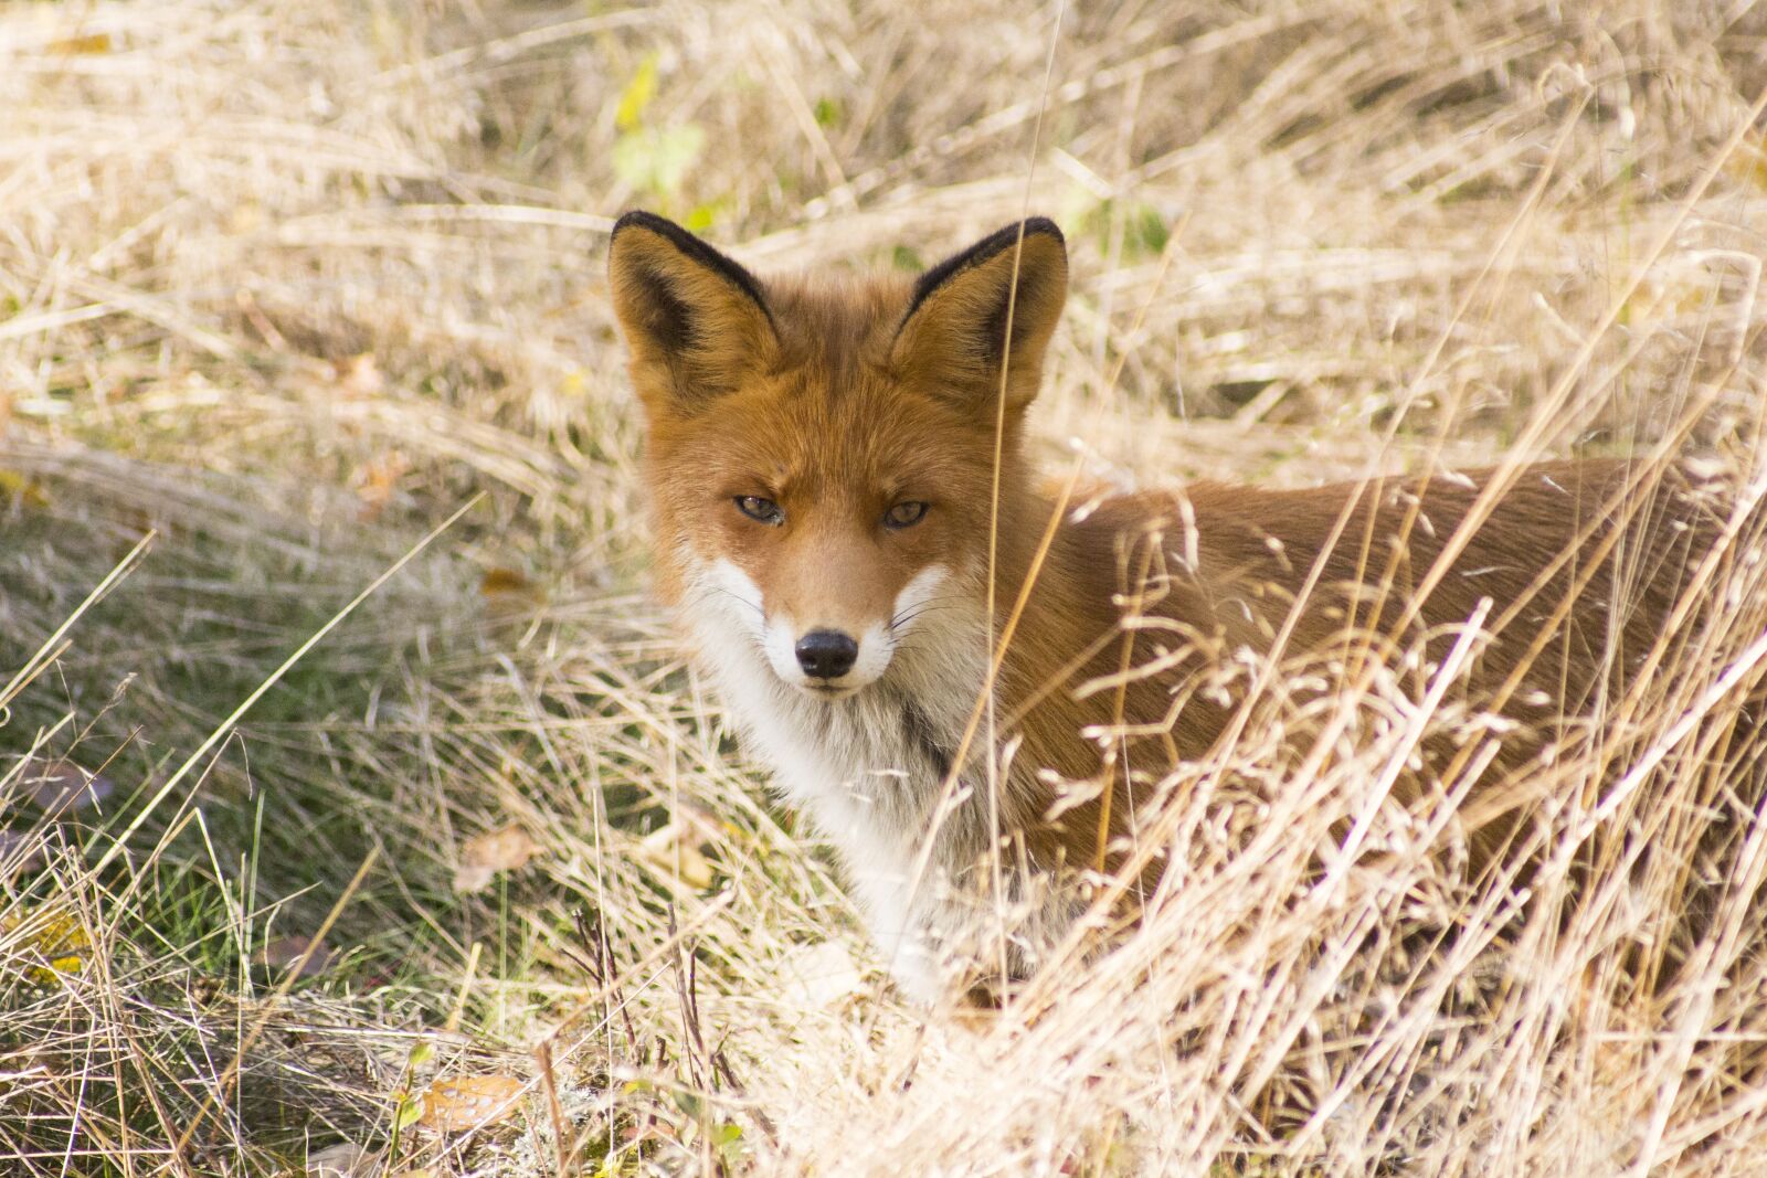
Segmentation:
{"type": "MultiPolygon", "coordinates": [[[[1626,461],[1051,514],[1023,438],[1067,293],[1046,219],[912,281],[763,281],[629,212],[610,286],[648,422],[659,590],[921,1001],[956,980],[991,851],[1014,897],[1062,871],[1152,871],[1124,749],[1143,766],[1209,754],[1237,703],[1210,666],[1346,636],[1440,659],[1483,618],[1472,682],[1514,735],[1481,782],[1513,784],[1541,733],[1640,673],[1719,523],[1686,479],[1645,493],[1626,461]]],[[[1048,922],[1073,904],[1057,895],[1048,922]]]]}

